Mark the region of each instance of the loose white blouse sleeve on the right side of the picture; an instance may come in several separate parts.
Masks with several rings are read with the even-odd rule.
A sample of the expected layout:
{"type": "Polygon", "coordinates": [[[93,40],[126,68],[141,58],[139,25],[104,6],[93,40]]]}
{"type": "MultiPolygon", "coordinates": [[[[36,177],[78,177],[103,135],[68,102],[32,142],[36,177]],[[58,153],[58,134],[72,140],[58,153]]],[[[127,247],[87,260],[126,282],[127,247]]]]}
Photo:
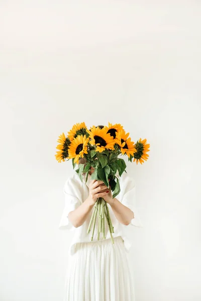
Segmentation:
{"type": "Polygon", "coordinates": [[[125,181],[125,190],[123,194],[122,204],[131,209],[134,213],[134,218],[129,225],[143,227],[143,224],[136,206],[136,184],[133,178],[127,176],[125,181]]]}

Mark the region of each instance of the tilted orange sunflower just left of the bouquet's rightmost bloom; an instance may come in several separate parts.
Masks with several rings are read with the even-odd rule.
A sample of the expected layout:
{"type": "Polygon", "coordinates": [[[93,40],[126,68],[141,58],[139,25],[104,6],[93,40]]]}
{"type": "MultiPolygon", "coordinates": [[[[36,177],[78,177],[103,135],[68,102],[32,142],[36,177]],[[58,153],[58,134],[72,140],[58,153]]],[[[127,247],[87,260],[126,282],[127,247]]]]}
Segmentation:
{"type": "Polygon", "coordinates": [[[123,155],[126,155],[130,158],[130,156],[133,156],[133,153],[136,152],[135,143],[131,141],[131,138],[129,137],[129,133],[126,133],[125,130],[120,130],[116,134],[116,143],[120,145],[120,149],[123,155]]]}

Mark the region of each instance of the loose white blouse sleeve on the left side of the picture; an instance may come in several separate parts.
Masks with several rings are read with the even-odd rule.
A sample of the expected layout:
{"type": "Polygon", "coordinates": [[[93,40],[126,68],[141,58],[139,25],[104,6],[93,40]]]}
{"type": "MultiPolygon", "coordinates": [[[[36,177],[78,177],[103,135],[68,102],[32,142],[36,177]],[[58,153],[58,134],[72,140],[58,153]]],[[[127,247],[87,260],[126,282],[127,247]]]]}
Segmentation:
{"type": "Polygon", "coordinates": [[[68,178],[65,182],[63,193],[65,205],[60,219],[59,229],[74,230],[75,227],[68,219],[68,214],[81,205],[81,202],[76,195],[76,183],[74,183],[71,178],[68,178]]]}

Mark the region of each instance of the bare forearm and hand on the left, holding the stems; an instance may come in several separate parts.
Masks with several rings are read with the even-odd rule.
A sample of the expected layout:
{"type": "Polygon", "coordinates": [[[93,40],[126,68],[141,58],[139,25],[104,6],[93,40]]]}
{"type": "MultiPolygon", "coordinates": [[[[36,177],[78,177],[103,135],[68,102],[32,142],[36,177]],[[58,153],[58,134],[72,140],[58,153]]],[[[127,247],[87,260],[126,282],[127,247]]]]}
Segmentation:
{"type": "Polygon", "coordinates": [[[108,187],[106,186],[106,189],[103,189],[103,187],[100,186],[101,183],[103,182],[91,180],[87,199],[75,210],[69,212],[68,219],[75,228],[80,227],[84,223],[97,198],[105,197],[108,194],[108,187]]]}

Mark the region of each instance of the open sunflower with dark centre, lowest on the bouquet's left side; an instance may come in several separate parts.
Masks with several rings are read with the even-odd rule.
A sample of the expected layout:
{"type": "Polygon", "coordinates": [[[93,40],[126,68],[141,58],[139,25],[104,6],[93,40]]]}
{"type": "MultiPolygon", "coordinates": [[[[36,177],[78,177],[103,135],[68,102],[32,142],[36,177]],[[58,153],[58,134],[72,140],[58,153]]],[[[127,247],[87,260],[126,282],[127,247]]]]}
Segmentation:
{"type": "Polygon", "coordinates": [[[84,154],[88,154],[88,141],[89,138],[86,138],[86,135],[77,135],[70,143],[68,149],[69,159],[74,158],[74,162],[78,164],[79,159],[83,158],[84,154]]]}

